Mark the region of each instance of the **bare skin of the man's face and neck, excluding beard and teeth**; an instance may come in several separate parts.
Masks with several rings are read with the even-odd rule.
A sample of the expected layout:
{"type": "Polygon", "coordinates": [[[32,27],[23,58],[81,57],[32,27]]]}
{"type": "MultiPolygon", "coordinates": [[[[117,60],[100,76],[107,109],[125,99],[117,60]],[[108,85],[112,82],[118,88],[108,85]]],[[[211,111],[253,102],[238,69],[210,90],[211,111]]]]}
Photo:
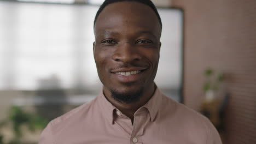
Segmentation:
{"type": "Polygon", "coordinates": [[[138,2],[107,5],[95,23],[94,58],[105,97],[131,118],[147,103],[155,91],[161,26],[154,11],[138,2]],[[118,72],[139,71],[134,75],[118,72]],[[141,98],[122,103],[112,97],[111,90],[130,93],[143,89],[141,98]]]}

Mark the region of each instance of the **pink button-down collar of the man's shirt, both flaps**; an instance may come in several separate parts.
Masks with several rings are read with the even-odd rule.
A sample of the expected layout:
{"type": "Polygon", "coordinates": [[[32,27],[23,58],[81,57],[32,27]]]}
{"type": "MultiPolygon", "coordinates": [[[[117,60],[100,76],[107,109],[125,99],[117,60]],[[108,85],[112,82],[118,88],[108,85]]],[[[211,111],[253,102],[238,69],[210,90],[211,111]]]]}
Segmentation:
{"type": "MultiPolygon", "coordinates": [[[[161,106],[161,92],[156,87],[155,92],[153,96],[149,99],[149,101],[142,107],[146,107],[149,111],[150,115],[150,121],[154,121],[156,114],[158,113],[158,110],[161,106]]],[[[98,102],[99,106],[101,107],[101,110],[103,112],[103,115],[109,120],[110,123],[114,124],[114,112],[117,110],[117,108],[111,104],[107,98],[103,94],[103,89],[101,90],[100,94],[98,94],[98,102]]]]}

